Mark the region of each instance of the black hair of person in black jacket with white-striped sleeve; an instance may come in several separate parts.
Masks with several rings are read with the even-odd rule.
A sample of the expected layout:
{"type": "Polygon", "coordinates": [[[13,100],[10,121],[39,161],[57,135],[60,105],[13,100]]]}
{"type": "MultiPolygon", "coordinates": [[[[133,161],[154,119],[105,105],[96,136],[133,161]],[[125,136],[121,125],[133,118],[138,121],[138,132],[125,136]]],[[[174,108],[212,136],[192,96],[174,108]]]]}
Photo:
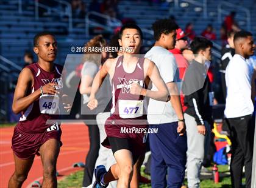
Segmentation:
{"type": "Polygon", "coordinates": [[[191,50],[197,54],[200,50],[205,50],[208,47],[213,47],[213,42],[204,37],[196,37],[190,44],[191,50]]]}

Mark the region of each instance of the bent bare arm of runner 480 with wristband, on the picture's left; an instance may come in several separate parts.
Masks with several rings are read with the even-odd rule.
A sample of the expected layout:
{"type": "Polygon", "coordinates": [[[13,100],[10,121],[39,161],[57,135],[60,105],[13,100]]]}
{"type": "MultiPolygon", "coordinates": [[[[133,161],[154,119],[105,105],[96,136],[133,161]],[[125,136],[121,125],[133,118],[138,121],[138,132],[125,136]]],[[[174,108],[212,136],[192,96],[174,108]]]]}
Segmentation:
{"type": "MultiPolygon", "coordinates": [[[[27,95],[29,88],[31,88],[33,84],[34,79],[31,70],[29,68],[24,68],[23,70],[21,70],[13,96],[12,110],[14,113],[18,114],[21,111],[26,110],[27,107],[32,104],[32,102],[40,97],[40,89],[35,90],[30,95],[27,95]]],[[[50,83],[44,85],[42,88],[43,93],[49,93],[54,95],[55,93],[57,93],[54,86],[57,86],[57,84],[50,83]]]]}

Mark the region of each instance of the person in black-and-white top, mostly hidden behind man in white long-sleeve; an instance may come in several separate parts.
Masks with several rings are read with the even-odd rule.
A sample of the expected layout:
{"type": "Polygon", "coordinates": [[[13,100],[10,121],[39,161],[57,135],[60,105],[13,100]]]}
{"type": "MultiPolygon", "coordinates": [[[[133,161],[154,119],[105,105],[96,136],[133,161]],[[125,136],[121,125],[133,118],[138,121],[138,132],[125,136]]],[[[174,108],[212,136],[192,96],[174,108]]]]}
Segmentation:
{"type": "Polygon", "coordinates": [[[219,69],[219,72],[221,72],[221,86],[222,86],[222,92],[223,92],[223,98],[224,101],[226,101],[226,81],[225,81],[225,73],[226,73],[226,67],[229,64],[229,61],[233,58],[235,55],[235,46],[234,46],[234,35],[235,32],[232,30],[227,33],[227,43],[224,48],[221,50],[221,67],[219,69]]]}

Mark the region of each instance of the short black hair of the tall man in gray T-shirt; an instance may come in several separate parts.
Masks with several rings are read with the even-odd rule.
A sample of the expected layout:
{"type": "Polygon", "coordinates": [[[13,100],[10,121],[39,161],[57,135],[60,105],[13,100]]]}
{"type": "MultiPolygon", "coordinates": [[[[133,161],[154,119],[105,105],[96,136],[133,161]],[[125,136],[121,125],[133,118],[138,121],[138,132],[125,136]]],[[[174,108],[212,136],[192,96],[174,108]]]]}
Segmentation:
{"type": "Polygon", "coordinates": [[[154,39],[158,41],[162,33],[168,35],[172,31],[179,29],[179,26],[171,19],[158,19],[152,24],[152,29],[154,30],[154,39]]]}

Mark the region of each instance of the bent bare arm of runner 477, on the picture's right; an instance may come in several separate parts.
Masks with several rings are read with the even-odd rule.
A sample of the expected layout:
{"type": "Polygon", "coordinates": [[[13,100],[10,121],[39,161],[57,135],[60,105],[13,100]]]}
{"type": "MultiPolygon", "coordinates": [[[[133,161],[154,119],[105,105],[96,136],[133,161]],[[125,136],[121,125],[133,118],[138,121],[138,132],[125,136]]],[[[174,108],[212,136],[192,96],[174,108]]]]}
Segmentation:
{"type": "Polygon", "coordinates": [[[158,101],[165,101],[165,102],[169,101],[170,96],[169,96],[168,89],[162,77],[160,76],[159,70],[157,66],[154,64],[154,62],[150,61],[149,59],[145,59],[144,71],[146,71],[145,77],[149,76],[149,78],[155,84],[158,90],[157,91],[147,90],[147,89],[141,88],[137,83],[133,83],[131,88],[131,93],[135,95],[148,96],[149,98],[152,98],[158,101]],[[141,92],[140,94],[138,94],[140,90],[141,92]]]}

